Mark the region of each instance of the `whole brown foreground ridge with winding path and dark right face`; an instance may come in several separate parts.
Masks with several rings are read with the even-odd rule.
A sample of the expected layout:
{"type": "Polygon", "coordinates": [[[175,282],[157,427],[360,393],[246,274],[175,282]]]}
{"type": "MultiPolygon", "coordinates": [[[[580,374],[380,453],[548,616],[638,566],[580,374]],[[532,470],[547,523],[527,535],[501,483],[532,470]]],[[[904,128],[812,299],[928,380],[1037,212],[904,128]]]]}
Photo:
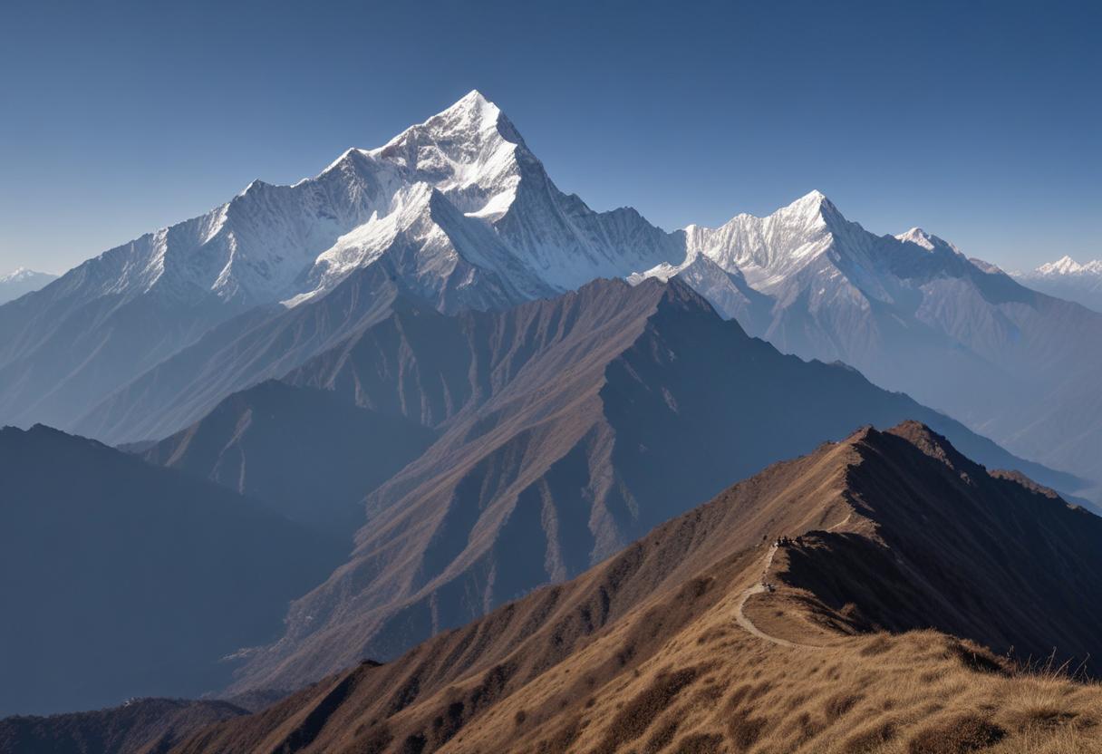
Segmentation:
{"type": "Polygon", "coordinates": [[[1095,686],[980,643],[1096,653],[1100,538],[926,427],[866,428],[174,751],[1089,751],[1095,686]]]}

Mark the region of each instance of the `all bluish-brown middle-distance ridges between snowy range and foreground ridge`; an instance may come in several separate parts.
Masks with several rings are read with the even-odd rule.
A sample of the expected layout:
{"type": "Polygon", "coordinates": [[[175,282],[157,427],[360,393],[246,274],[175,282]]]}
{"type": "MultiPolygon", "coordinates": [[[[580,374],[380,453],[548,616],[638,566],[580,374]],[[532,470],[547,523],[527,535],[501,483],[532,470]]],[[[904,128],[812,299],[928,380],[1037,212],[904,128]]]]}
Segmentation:
{"type": "Polygon", "coordinates": [[[26,617],[0,637],[0,709],[298,688],[397,657],[854,422],[917,417],[992,467],[1074,484],[779,353],[677,278],[455,314],[396,289],[387,311],[128,453],[3,431],[7,572],[33,578],[4,588],[26,617]]]}

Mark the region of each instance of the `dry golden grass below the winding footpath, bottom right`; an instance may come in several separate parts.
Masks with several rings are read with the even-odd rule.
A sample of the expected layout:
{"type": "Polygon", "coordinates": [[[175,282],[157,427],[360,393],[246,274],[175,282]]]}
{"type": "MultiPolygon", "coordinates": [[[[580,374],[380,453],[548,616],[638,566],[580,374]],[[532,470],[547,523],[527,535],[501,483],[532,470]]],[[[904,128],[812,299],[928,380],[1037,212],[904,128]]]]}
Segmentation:
{"type": "MultiPolygon", "coordinates": [[[[771,645],[715,625],[725,607],[717,604],[638,674],[622,674],[576,704],[562,694],[577,668],[553,669],[517,694],[544,702],[528,724],[515,722],[506,699],[443,751],[1102,752],[1096,685],[1020,671],[932,631],[843,637],[819,649],[771,645]]],[[[615,640],[615,633],[605,639],[615,640]]]]}

